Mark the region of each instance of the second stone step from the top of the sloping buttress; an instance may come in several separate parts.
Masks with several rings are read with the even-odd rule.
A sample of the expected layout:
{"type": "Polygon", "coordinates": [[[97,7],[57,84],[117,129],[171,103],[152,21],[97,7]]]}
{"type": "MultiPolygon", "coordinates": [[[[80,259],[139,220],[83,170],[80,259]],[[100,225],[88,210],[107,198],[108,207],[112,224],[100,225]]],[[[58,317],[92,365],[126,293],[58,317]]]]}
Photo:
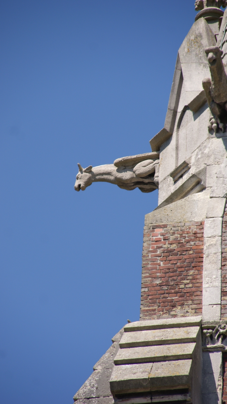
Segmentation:
{"type": "Polygon", "coordinates": [[[120,348],[196,342],[199,326],[124,332],[120,348]]]}

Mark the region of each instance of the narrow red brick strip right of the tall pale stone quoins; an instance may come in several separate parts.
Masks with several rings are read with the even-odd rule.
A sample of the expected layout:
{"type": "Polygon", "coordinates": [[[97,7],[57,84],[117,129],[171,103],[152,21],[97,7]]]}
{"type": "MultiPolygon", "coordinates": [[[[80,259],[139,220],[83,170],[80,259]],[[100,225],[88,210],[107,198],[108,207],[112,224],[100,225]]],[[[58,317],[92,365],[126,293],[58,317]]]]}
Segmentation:
{"type": "Polygon", "coordinates": [[[227,206],[222,222],[221,251],[221,319],[227,320],[227,206]]]}

